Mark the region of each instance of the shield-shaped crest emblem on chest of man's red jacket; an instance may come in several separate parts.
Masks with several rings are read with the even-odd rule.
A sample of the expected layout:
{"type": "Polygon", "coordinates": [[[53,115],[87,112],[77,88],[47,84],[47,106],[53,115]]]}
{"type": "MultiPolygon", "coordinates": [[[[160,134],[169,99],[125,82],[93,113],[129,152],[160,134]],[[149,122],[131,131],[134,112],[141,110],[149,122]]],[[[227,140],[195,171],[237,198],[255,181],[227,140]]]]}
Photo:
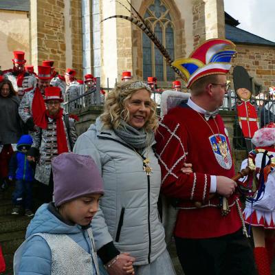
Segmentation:
{"type": "Polygon", "coordinates": [[[209,140],[217,162],[222,168],[229,170],[232,167],[232,157],[225,135],[210,135],[209,140]]]}

